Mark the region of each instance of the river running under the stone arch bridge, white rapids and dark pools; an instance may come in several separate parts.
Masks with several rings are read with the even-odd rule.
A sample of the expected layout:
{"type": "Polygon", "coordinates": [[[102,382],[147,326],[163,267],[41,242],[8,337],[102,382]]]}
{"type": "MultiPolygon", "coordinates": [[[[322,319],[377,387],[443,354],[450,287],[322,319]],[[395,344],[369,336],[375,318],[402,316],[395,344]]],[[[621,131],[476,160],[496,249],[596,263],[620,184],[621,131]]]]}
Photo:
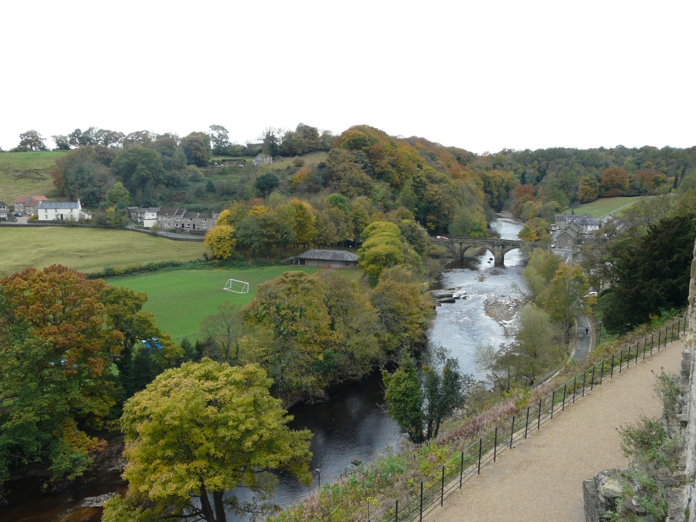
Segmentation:
{"type": "MultiPolygon", "coordinates": [[[[516,239],[521,223],[512,219],[500,218],[493,228],[504,239],[516,239]]],[[[521,280],[522,256],[519,251],[505,255],[505,267],[493,267],[489,263],[491,253],[475,258],[466,258],[463,265],[448,267],[443,275],[443,287],[460,287],[466,290],[466,299],[457,299],[437,308],[434,326],[429,338],[452,352],[459,359],[460,369],[482,379],[474,363],[475,348],[481,342],[498,345],[506,342],[502,326],[488,317],[484,303],[489,300],[509,299],[521,296],[519,288],[524,287],[521,280]]],[[[310,429],[314,437],[310,446],[314,457],[311,469],[314,482],[303,487],[289,477],[280,477],[276,491],[276,502],[281,506],[294,503],[322,483],[330,481],[342,470],[352,466],[353,461],[365,464],[374,460],[378,454],[395,448],[402,435],[396,423],[387,418],[383,411],[383,392],[381,377],[375,372],[361,383],[342,386],[333,390],[331,400],[312,406],[294,407],[291,426],[294,429],[310,429]],[[316,472],[319,470],[319,473],[316,472]]],[[[40,522],[47,520],[98,521],[98,510],[77,508],[75,500],[86,496],[96,496],[106,491],[124,489],[118,475],[104,475],[97,482],[78,482],[63,491],[52,495],[40,494],[35,483],[26,484],[26,489],[13,492],[10,500],[13,505],[0,507],[0,521],[40,522]],[[77,508],[77,509],[76,509],[77,508]],[[75,509],[65,518],[56,514],[67,509],[75,509]],[[85,518],[91,514],[91,519],[85,518]]],[[[230,521],[239,521],[229,516],[230,521]]]]}

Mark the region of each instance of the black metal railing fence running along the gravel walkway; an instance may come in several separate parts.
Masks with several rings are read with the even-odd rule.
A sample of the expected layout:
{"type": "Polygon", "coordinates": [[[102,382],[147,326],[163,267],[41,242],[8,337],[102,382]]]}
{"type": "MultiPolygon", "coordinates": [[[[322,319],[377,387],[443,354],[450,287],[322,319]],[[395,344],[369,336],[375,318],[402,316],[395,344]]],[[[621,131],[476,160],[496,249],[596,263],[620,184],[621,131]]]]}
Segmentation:
{"type": "Polygon", "coordinates": [[[567,406],[585,397],[588,391],[600,386],[605,379],[612,379],[654,351],[666,347],[667,342],[676,340],[686,333],[686,326],[686,317],[679,317],[671,324],[638,340],[635,345],[629,345],[610,358],[587,368],[583,373],[541,397],[535,404],[530,404],[512,418],[500,422],[461,454],[446,462],[440,470],[422,480],[419,486],[407,491],[377,514],[370,516],[368,513],[367,521],[422,521],[438,505],[442,506],[454,491],[461,489],[465,482],[481,473],[481,468],[495,462],[505,450],[514,448],[516,442],[527,438],[535,429],[541,429],[553,416],[557,416],[567,406]]]}

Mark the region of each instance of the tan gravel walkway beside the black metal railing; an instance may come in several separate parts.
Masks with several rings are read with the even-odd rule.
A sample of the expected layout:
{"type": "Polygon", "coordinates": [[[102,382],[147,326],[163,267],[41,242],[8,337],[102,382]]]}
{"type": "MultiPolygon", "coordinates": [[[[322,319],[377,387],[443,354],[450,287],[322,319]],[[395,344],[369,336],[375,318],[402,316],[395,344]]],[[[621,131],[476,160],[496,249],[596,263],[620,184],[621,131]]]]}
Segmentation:
{"type": "MultiPolygon", "coordinates": [[[[585,333],[583,331],[583,333],[585,333]]],[[[657,418],[656,373],[681,370],[681,341],[596,386],[486,466],[427,517],[443,522],[585,522],[583,480],[626,466],[617,428],[657,418]],[[649,363],[649,364],[647,364],[649,363]]]]}

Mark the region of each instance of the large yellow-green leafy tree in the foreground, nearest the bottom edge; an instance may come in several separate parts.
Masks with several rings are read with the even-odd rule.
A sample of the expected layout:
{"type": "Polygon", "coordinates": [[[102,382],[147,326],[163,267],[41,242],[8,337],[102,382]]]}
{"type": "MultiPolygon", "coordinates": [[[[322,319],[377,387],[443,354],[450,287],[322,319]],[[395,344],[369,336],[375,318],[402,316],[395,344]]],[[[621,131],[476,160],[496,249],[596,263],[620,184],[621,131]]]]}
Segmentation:
{"type": "Polygon", "coordinates": [[[310,432],[269,394],[258,365],[230,367],[204,358],[159,375],[123,409],[125,498],[104,507],[104,522],[196,517],[224,522],[226,512],[268,513],[264,503],[283,470],[308,485],[310,432]],[[254,498],[244,503],[234,491],[254,498]]]}

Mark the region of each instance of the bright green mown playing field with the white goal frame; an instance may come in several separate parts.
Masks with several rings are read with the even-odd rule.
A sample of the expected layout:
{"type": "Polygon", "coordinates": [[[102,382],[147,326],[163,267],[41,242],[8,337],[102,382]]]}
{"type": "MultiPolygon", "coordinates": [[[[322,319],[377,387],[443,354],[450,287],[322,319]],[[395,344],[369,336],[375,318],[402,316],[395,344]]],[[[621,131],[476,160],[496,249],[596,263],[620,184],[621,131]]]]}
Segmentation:
{"type": "Polygon", "coordinates": [[[143,310],[155,315],[162,331],[173,338],[190,337],[200,331],[203,319],[217,313],[224,303],[244,306],[253,299],[256,287],[287,270],[314,274],[318,269],[307,267],[264,267],[255,269],[177,270],[157,274],[139,274],[109,278],[110,285],[127,287],[148,294],[143,310]],[[249,283],[248,294],[223,290],[228,279],[249,283]]]}

